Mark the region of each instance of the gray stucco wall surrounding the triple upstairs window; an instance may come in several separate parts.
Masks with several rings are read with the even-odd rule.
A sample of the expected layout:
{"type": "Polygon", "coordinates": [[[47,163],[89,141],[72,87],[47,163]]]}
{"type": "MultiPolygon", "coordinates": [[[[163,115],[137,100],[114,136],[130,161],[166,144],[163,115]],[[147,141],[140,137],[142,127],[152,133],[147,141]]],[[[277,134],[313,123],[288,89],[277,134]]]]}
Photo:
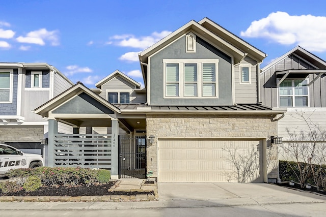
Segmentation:
{"type": "Polygon", "coordinates": [[[183,36],[150,58],[150,105],[231,105],[232,64],[231,57],[197,36],[196,53],[186,53],[186,37],[183,36]],[[163,59],[218,59],[218,99],[164,99],[163,59]]]}

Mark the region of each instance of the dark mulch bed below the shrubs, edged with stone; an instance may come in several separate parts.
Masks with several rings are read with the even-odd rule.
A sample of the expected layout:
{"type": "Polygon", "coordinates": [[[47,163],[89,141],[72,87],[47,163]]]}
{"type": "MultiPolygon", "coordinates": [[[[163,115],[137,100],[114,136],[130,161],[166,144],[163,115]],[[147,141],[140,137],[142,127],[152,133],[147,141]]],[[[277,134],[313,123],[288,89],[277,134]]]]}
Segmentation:
{"type": "Polygon", "coordinates": [[[0,190],[0,196],[104,196],[104,195],[139,195],[148,194],[148,192],[109,192],[108,190],[115,184],[110,182],[107,184],[92,185],[90,187],[77,186],[77,187],[45,187],[36,190],[35,192],[26,192],[20,190],[18,192],[3,193],[0,190]]]}

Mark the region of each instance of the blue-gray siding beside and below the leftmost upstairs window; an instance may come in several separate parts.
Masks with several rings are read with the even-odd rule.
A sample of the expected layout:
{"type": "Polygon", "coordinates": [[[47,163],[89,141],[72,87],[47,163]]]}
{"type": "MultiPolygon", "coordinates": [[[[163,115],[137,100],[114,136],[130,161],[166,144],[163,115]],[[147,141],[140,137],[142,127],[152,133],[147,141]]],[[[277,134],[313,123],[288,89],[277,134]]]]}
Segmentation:
{"type": "Polygon", "coordinates": [[[13,69],[12,103],[0,103],[0,115],[17,115],[18,69],[13,69]]]}

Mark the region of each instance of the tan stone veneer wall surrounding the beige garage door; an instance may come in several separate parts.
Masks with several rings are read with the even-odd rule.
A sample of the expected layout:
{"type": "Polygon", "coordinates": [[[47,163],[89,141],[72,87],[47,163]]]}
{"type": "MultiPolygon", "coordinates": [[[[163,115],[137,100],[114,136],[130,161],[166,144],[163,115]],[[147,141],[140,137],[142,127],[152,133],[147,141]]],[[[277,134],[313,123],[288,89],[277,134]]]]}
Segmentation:
{"type": "MultiPolygon", "coordinates": [[[[157,178],[158,138],[266,138],[277,135],[275,115],[147,115],[146,133],[155,136],[155,143],[147,147],[147,171],[157,178]]],[[[269,164],[278,163],[277,148],[269,148],[269,164]]],[[[267,154],[268,155],[268,154],[267,154]]],[[[277,178],[277,168],[267,166],[268,177],[277,178]],[[272,169],[273,168],[273,169],[272,169]],[[273,172],[272,172],[273,171],[273,172]],[[275,172],[276,171],[276,172],[275,172]],[[271,175],[270,175],[271,174],[271,175]]]]}

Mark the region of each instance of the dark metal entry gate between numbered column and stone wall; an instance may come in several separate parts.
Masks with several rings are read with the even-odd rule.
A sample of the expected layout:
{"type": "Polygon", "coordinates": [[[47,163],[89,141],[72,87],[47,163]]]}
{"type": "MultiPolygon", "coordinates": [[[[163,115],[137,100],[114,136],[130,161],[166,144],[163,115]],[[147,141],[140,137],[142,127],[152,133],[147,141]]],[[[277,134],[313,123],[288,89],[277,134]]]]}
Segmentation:
{"type": "Polygon", "coordinates": [[[146,135],[119,136],[119,178],[146,178],[146,135]]]}

